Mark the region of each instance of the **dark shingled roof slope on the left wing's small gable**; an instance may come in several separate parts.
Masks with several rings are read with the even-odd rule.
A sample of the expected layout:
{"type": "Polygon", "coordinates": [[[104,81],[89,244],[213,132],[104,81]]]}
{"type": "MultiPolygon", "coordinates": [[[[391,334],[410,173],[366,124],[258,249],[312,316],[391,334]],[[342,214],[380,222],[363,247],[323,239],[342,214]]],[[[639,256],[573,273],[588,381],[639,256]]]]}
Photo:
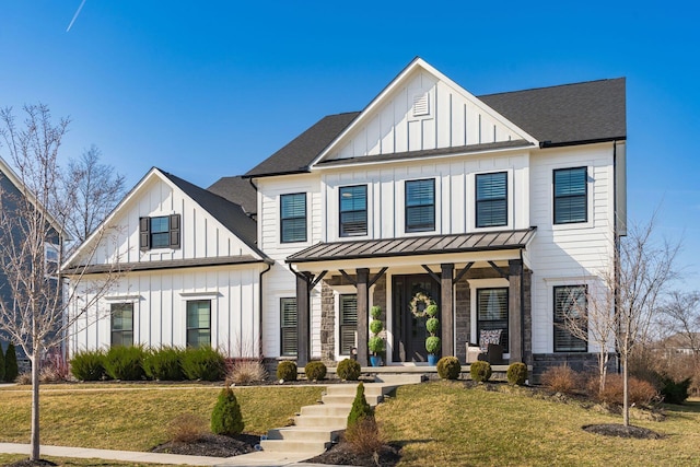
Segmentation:
{"type": "Polygon", "coordinates": [[[167,172],[160,171],[171,182],[177,185],[183,191],[201,206],[207,212],[213,215],[226,229],[233,232],[246,245],[253,248],[261,258],[267,256],[257,247],[257,224],[243,211],[241,206],[228,199],[207,191],[203,188],[192,185],[167,172]]]}

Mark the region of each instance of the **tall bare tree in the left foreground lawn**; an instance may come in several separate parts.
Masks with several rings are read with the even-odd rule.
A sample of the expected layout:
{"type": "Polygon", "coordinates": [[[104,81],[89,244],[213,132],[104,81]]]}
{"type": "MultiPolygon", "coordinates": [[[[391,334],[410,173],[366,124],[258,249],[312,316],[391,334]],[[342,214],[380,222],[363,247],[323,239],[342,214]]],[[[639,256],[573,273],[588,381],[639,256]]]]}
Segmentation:
{"type": "MultiPolygon", "coordinates": [[[[80,313],[69,316],[60,265],[72,196],[79,180],[62,178],[57,157],[69,120],[54,122],[45,105],[28,105],[18,125],[11,108],[0,110],[0,153],[14,165],[3,173],[0,190],[0,332],[19,346],[32,365],[32,452],[39,458],[39,372],[42,359],[58,347],[80,313]]],[[[107,235],[103,229],[95,235],[107,235]]],[[[85,256],[90,257],[88,252],[85,256]]],[[[116,268],[118,258],[115,258],[116,268]]],[[[118,277],[100,281],[79,270],[72,283],[84,282],[97,300],[118,277]],[[91,277],[92,278],[92,277],[91,277]]],[[[85,308],[91,304],[86,303],[85,308]]]]}

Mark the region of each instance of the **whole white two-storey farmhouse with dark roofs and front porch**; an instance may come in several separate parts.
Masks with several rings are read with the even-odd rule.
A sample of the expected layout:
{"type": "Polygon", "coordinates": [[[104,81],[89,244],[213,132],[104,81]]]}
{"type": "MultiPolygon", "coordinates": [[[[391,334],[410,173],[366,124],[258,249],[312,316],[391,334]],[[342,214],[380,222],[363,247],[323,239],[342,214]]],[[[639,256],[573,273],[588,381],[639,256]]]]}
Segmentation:
{"type": "Polygon", "coordinates": [[[417,58],[242,178],[151,171],[93,268],[119,254],[129,272],[72,349],[206,342],[299,364],[357,349],[366,365],[378,305],[384,363],[415,364],[432,300],[440,353],[463,363],[485,342],[536,373],[595,359],[561,323],[614,267],[625,165],[623,79],[474,96],[417,58]]]}

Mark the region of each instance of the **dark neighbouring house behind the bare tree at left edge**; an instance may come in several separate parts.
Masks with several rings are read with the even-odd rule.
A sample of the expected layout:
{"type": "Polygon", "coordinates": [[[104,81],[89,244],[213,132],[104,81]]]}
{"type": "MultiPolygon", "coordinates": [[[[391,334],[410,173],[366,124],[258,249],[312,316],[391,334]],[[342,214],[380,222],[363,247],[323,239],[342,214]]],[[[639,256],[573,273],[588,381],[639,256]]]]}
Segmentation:
{"type": "MultiPolygon", "coordinates": [[[[14,217],[14,219],[18,219],[16,218],[18,215],[26,215],[25,213],[27,211],[23,208],[22,205],[26,200],[25,194],[27,192],[28,190],[22,183],[22,179],[20,178],[20,176],[12,170],[12,167],[10,167],[10,165],[2,157],[0,157],[0,209],[2,209],[2,215],[3,217],[9,215],[10,218],[14,217]]],[[[63,241],[68,238],[60,237],[60,235],[58,234],[58,232],[60,231],[60,227],[58,227],[56,220],[45,211],[45,208],[38,203],[38,201],[34,198],[33,195],[27,195],[27,196],[30,196],[28,199],[31,201],[30,206],[33,207],[32,210],[37,208],[40,210],[37,212],[42,212],[43,217],[46,215],[47,238],[46,238],[45,248],[44,248],[46,267],[47,267],[47,270],[58,271],[60,252],[63,245],[63,241]]],[[[22,233],[19,230],[19,227],[14,225],[14,222],[15,222],[14,219],[0,221],[2,222],[2,227],[0,229],[0,242],[2,242],[3,245],[8,245],[13,242],[15,243],[16,246],[20,245],[20,242],[21,242],[20,237],[22,233]],[[9,231],[12,231],[12,234],[10,234],[9,231]]],[[[23,219],[26,219],[26,218],[23,218],[23,219]]],[[[12,259],[14,258],[4,258],[0,254],[0,261],[12,260],[12,259]]],[[[49,275],[46,278],[46,280],[51,281],[51,284],[56,283],[56,287],[58,287],[57,277],[52,277],[49,275]]],[[[5,304],[15,303],[12,294],[12,289],[8,284],[8,278],[2,267],[0,267],[0,300],[2,300],[5,304]]],[[[16,307],[14,310],[16,310],[16,307]]],[[[3,336],[2,331],[0,331],[0,345],[2,346],[3,351],[7,350],[8,342],[9,342],[9,336],[3,336]]],[[[18,358],[21,361],[24,360],[25,358],[24,351],[20,346],[16,347],[16,352],[18,352],[18,358]]]]}

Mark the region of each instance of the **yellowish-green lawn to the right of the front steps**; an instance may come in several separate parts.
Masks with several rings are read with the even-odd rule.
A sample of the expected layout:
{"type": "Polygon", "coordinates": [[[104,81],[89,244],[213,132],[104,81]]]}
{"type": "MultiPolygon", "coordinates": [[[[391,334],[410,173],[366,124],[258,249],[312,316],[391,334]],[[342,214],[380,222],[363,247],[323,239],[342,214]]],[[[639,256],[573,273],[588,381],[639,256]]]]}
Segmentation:
{"type": "MultiPolygon", "coordinates": [[[[525,393],[525,392],[523,392],[525,393]]],[[[666,437],[631,440],[584,432],[593,423],[621,423],[621,416],[578,404],[458,382],[404,386],[377,409],[393,441],[404,444],[400,466],[698,466],[700,401],[667,406],[662,422],[632,419],[666,437]]]]}

